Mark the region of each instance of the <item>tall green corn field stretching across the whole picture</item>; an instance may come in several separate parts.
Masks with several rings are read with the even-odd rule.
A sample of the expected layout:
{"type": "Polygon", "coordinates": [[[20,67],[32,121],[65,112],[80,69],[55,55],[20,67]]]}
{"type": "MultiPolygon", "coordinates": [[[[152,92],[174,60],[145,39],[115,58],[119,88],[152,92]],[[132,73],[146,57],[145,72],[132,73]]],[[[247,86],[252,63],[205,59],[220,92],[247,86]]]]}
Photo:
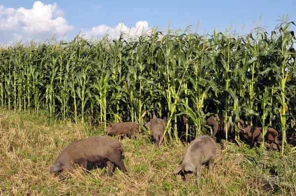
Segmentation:
{"type": "Polygon", "coordinates": [[[134,39],[78,34],[71,42],[2,45],[0,104],[103,128],[155,111],[168,115],[171,141],[179,139],[169,126],[178,115],[185,114],[190,134],[201,135],[206,117],[219,113],[235,126],[242,118],[265,132],[273,127],[284,145],[296,121],[296,37],[288,16],[279,21],[271,33],[259,26],[245,35],[231,27],[202,35],[168,27],[134,39]]]}

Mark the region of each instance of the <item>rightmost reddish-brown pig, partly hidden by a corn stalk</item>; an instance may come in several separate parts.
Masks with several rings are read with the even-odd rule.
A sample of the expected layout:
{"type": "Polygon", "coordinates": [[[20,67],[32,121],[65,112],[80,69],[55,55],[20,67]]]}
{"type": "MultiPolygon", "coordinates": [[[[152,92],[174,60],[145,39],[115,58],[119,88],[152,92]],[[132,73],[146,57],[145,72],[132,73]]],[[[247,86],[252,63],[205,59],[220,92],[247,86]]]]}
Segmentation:
{"type": "MultiPolygon", "coordinates": [[[[257,127],[257,128],[244,128],[244,129],[240,129],[242,132],[242,136],[247,140],[250,141],[251,147],[253,146],[257,146],[257,142],[260,141],[262,139],[262,128],[261,127],[257,127]]],[[[267,128],[267,132],[264,136],[264,140],[270,144],[268,152],[270,152],[272,150],[272,147],[274,144],[276,144],[276,147],[278,150],[280,150],[280,145],[279,145],[279,141],[278,141],[278,131],[276,131],[273,128],[267,128]]]]}

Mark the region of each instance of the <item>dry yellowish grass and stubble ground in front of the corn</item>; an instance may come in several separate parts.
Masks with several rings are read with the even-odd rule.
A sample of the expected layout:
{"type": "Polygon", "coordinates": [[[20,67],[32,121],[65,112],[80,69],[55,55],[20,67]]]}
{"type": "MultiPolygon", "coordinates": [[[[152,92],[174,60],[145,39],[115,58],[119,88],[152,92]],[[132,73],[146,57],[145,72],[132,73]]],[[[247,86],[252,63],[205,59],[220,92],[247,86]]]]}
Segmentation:
{"type": "Polygon", "coordinates": [[[79,123],[0,109],[0,195],[296,195],[296,153],[289,146],[280,158],[279,152],[231,145],[217,155],[211,174],[203,167],[199,179],[185,181],[172,174],[185,146],[170,143],[157,150],[143,134],[120,140],[128,175],[118,168],[112,177],[106,168],[77,168],[61,181],[49,173],[69,143],[103,134],[79,123]]]}

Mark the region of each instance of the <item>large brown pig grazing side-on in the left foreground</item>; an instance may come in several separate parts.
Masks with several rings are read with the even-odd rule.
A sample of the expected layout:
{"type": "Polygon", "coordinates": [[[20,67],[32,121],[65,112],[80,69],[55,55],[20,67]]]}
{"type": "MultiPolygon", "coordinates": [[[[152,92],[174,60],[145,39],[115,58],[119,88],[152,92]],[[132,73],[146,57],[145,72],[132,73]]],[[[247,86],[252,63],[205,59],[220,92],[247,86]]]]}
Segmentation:
{"type": "Polygon", "coordinates": [[[53,163],[50,173],[63,174],[71,171],[74,164],[86,169],[88,163],[107,163],[108,174],[112,176],[114,163],[124,173],[127,170],[121,160],[123,145],[109,136],[98,136],[79,139],[69,144],[53,163]]]}

